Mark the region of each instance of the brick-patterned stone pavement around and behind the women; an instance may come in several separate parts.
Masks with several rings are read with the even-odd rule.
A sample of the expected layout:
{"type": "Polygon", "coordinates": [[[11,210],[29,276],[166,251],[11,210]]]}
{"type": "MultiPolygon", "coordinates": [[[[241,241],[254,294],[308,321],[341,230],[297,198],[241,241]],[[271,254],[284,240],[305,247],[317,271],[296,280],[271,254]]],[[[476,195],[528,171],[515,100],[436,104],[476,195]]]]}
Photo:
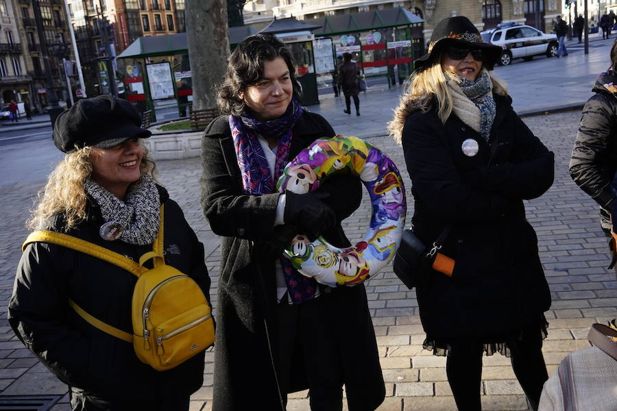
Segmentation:
{"type": "MultiPolygon", "coordinates": [[[[588,347],[590,325],[617,316],[617,281],[605,268],[609,256],[598,225],[596,204],[574,185],[568,175],[570,149],[580,113],[560,112],[530,116],[527,125],[556,155],[555,184],[540,199],[527,203],[529,221],[537,231],[540,256],[551,284],[553,306],[547,313],[551,325],[544,341],[549,373],[570,351],[588,347]]],[[[335,130],[346,132],[343,127],[335,130]]],[[[370,138],[402,167],[409,188],[402,152],[388,137],[370,138]]],[[[208,270],[217,287],[219,242],[199,210],[199,159],[158,162],[160,181],[182,206],[199,239],[204,242],[208,270]]],[[[20,256],[26,210],[42,182],[0,185],[0,401],[5,395],[64,395],[54,411],[69,410],[66,386],[58,382],[16,339],[6,321],[6,305],[14,270],[20,256]]],[[[367,195],[363,205],[344,223],[352,240],[360,240],[370,218],[367,195]]],[[[411,217],[412,210],[408,212],[411,217]]],[[[380,410],[455,410],[446,381],[445,358],[422,350],[424,334],[418,317],[415,292],[396,279],[387,266],[367,283],[370,309],[377,334],[387,398],[380,410]]],[[[212,292],[216,306],[216,290],[212,292]]],[[[504,319],[507,321],[507,319],[504,319]]],[[[509,360],[500,355],[485,357],[482,382],[485,410],[527,410],[522,389],[509,360]]],[[[213,383],[213,352],[206,353],[204,386],[191,397],[191,410],[210,408],[213,383]]],[[[290,396],[289,410],[308,410],[306,392],[290,396]]]]}

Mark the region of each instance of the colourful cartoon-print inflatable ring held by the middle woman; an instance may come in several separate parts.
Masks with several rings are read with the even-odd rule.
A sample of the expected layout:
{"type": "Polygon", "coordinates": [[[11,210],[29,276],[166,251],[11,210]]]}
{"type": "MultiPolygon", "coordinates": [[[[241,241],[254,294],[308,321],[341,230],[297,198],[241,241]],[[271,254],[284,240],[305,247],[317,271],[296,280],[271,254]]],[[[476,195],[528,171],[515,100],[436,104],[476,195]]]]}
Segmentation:
{"type": "Polygon", "coordinates": [[[360,177],[373,208],[368,231],[354,247],[339,249],[324,238],[296,236],[285,256],[307,277],[327,286],[353,286],[374,276],[394,257],[405,225],[405,190],[394,162],[361,138],[317,140],[285,167],[276,188],[298,194],[343,169],[360,177]]]}

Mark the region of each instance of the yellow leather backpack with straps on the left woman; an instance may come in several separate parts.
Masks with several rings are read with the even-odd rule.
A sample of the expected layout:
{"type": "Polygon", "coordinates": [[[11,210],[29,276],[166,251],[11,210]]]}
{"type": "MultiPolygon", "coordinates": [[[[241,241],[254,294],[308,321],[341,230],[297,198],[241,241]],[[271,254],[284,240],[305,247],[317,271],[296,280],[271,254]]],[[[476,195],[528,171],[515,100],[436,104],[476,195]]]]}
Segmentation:
{"type": "Polygon", "coordinates": [[[90,325],[132,343],[139,360],[157,371],[172,369],[214,344],[214,319],[201,288],[191,277],[165,264],[163,206],[160,206],[159,231],[152,251],[141,256],[139,264],[105,247],[58,232],[33,232],[22,250],[30,242],[49,242],[74,249],[138,277],[132,299],[133,334],[95,318],[71,299],[69,306],[90,325]],[[148,260],[153,260],[153,269],[143,266],[148,260]]]}

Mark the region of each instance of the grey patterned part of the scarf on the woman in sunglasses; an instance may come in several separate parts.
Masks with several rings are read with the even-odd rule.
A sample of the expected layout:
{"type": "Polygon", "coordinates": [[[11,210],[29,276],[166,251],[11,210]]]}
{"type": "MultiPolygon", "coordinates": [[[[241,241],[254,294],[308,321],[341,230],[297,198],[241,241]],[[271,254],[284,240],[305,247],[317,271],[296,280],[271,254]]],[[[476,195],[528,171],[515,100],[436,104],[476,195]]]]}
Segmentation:
{"type": "Polygon", "coordinates": [[[459,76],[455,77],[455,81],[459,84],[459,88],[461,88],[465,96],[480,109],[481,119],[479,132],[480,135],[488,141],[497,110],[495,100],[489,93],[492,84],[488,73],[482,71],[475,82],[459,76]]]}

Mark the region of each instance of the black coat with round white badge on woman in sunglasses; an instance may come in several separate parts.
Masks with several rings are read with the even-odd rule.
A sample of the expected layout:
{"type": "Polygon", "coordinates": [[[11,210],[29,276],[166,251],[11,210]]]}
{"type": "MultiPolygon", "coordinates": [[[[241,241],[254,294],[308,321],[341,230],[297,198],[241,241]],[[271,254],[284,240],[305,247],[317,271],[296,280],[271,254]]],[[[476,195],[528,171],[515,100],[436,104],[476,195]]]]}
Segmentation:
{"type": "Polygon", "coordinates": [[[479,133],[450,114],[414,112],[404,123],[402,146],[413,184],[414,232],[432,244],[447,223],[441,253],[455,260],[452,277],[432,271],[418,290],[429,338],[482,338],[540,321],[551,295],[525,219],[523,199],[553,184],[553,153],[520,120],[510,97],[494,95],[494,155],[479,133]],[[463,154],[472,138],[479,152],[463,154]]]}

